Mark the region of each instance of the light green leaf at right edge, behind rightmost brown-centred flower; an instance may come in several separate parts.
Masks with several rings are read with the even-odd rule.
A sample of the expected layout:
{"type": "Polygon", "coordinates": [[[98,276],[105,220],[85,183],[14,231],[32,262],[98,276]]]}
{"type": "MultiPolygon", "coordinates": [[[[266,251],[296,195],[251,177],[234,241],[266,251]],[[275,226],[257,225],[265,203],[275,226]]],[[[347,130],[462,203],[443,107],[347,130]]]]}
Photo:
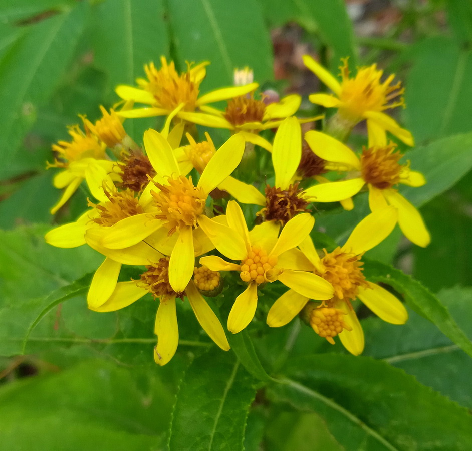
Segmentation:
{"type": "Polygon", "coordinates": [[[407,152],[404,159],[410,161],[413,170],[426,177],[424,186],[399,189],[411,203],[420,207],[449,189],[472,168],[472,133],[438,139],[407,152]]]}

